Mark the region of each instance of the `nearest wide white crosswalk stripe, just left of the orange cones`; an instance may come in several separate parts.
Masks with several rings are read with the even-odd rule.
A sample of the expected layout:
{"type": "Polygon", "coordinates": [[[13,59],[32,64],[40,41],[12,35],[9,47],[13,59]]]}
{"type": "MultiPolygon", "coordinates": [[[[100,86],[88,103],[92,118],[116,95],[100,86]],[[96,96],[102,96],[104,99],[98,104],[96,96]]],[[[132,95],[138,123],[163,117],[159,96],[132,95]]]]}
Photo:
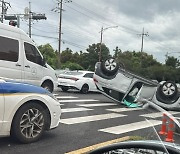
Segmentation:
{"type": "Polygon", "coordinates": [[[122,134],[122,133],[127,133],[139,129],[144,129],[148,127],[160,125],[162,122],[159,120],[149,120],[148,121],[140,121],[140,122],[135,122],[135,123],[130,123],[130,124],[125,124],[125,125],[120,125],[120,126],[115,126],[115,127],[109,127],[105,129],[99,129],[98,131],[101,132],[106,132],[106,133],[111,133],[111,134],[122,134]]]}

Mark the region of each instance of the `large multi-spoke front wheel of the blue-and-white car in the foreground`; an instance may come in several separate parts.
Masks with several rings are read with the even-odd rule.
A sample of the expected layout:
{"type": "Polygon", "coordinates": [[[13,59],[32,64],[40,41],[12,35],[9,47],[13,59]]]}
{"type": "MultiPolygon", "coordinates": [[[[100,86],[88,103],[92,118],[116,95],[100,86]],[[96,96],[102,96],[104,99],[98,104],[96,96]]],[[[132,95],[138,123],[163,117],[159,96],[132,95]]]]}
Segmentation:
{"type": "Polygon", "coordinates": [[[28,103],[19,108],[12,122],[11,135],[21,143],[39,140],[48,124],[44,108],[37,103],[28,103]]]}

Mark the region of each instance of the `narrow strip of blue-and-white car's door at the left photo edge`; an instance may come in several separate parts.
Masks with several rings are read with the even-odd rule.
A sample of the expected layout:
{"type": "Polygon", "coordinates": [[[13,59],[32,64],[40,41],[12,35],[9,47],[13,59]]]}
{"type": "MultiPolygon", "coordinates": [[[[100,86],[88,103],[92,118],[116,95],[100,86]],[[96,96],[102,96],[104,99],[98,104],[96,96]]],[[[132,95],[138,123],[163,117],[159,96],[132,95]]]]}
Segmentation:
{"type": "Polygon", "coordinates": [[[3,119],[4,119],[4,95],[0,81],[0,131],[1,131],[3,119]]]}

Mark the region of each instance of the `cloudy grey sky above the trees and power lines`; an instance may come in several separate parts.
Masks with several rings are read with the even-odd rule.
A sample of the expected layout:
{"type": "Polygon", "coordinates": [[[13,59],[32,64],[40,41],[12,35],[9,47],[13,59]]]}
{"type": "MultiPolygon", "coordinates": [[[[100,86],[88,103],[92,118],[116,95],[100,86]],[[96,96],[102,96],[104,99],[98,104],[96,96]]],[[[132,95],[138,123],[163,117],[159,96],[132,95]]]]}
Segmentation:
{"type": "MultiPolygon", "coordinates": [[[[7,14],[24,13],[29,0],[5,0],[11,8],[7,14]]],[[[31,10],[45,13],[47,20],[33,21],[32,38],[37,45],[50,43],[58,49],[59,14],[57,0],[31,0],[31,10]],[[37,36],[38,35],[38,36],[37,36]]],[[[5,23],[8,23],[5,21],[5,23]]],[[[62,50],[85,51],[88,45],[100,42],[110,49],[140,51],[144,33],[144,51],[164,62],[166,53],[179,58],[180,0],[63,0],[62,50]],[[117,28],[112,28],[118,26],[117,28]],[[109,27],[109,28],[108,28],[109,27]]],[[[21,18],[20,27],[28,33],[28,21],[21,18]]]]}

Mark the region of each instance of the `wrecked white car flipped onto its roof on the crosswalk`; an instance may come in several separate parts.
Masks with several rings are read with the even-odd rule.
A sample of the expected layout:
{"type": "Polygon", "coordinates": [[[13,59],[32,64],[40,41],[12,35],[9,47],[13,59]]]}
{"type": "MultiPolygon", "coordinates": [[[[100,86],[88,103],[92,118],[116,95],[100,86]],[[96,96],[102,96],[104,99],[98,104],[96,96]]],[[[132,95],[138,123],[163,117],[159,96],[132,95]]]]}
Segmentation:
{"type": "Polygon", "coordinates": [[[138,106],[137,99],[146,99],[168,110],[180,109],[180,92],[174,82],[158,83],[140,77],[113,58],[96,63],[94,81],[102,94],[130,107],[138,106]]]}

